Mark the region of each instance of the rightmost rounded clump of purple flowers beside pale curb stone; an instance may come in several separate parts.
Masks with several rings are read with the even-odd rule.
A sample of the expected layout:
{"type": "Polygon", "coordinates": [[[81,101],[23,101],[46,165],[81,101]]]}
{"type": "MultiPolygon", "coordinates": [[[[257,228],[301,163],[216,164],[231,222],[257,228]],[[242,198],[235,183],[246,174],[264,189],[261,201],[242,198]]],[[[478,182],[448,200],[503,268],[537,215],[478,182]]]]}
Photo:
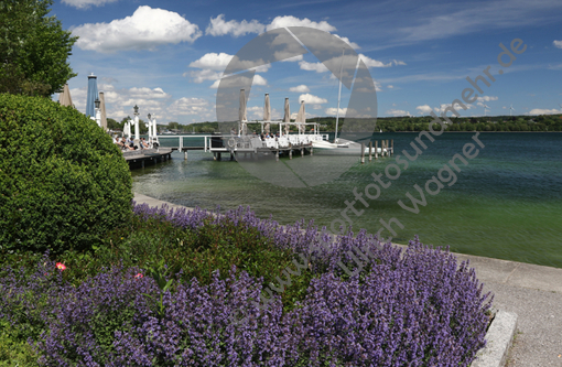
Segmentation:
{"type": "Polygon", "coordinates": [[[363,282],[325,273],[307,293],[300,354],[313,365],[468,366],[485,344],[491,300],[474,269],[417,240],[363,282]]]}

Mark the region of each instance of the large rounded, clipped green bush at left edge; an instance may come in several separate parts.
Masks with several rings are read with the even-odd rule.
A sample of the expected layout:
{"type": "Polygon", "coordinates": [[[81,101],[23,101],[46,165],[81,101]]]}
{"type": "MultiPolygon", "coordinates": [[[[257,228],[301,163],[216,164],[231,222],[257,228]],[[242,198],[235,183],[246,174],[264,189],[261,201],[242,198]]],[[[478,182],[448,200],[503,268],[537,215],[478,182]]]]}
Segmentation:
{"type": "Polygon", "coordinates": [[[88,249],[131,215],[111,138],[71,107],[0,95],[0,249],[88,249]]]}

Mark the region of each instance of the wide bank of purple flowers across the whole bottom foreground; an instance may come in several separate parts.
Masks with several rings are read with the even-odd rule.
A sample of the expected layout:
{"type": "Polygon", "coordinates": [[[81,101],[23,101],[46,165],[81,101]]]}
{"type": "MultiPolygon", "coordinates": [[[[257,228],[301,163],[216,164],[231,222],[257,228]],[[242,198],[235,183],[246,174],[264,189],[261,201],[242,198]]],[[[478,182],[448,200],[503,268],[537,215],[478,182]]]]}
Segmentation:
{"type": "Polygon", "coordinates": [[[75,287],[45,259],[30,277],[3,270],[0,317],[36,344],[45,366],[468,366],[491,302],[474,270],[417,239],[403,253],[374,240],[359,233],[341,237],[333,253],[314,250],[317,278],[290,311],[279,295],[259,303],[263,280],[236,268],[163,291],[122,267],[75,287]],[[345,277],[337,258],[352,246],[376,257],[345,277]],[[233,321],[238,312],[247,323],[233,321]]]}

